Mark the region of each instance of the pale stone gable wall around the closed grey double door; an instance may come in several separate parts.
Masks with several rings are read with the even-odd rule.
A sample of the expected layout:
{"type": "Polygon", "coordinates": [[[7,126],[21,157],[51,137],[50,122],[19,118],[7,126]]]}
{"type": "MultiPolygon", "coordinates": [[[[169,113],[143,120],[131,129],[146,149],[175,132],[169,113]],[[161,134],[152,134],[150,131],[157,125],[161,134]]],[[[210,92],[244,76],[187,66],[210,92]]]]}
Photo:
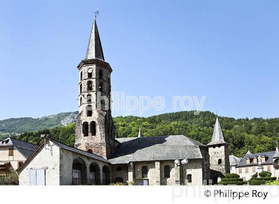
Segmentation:
{"type": "Polygon", "coordinates": [[[60,151],[52,142],[43,146],[36,156],[28,162],[19,174],[19,185],[29,185],[29,171],[31,169],[45,169],[45,184],[59,185],[60,151]]]}

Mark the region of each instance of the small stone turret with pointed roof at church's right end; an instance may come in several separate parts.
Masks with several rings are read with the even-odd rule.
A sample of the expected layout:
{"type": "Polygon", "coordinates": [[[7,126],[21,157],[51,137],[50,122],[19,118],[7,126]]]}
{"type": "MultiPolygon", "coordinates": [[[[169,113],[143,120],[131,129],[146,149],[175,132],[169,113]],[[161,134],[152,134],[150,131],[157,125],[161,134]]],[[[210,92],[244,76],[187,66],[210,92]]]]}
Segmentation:
{"type": "Polygon", "coordinates": [[[210,169],[230,173],[229,144],[225,142],[218,117],[216,118],[211,142],[207,144],[210,157],[210,169]]]}

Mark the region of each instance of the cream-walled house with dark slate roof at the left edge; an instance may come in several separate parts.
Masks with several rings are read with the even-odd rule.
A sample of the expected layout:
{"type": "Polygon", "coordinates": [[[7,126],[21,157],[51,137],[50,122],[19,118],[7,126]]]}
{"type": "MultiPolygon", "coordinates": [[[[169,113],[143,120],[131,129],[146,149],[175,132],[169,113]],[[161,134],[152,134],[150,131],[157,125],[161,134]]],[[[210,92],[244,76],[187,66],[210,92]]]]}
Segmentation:
{"type": "Polygon", "coordinates": [[[0,141],[0,176],[16,170],[37,149],[38,145],[6,138],[0,141]]]}

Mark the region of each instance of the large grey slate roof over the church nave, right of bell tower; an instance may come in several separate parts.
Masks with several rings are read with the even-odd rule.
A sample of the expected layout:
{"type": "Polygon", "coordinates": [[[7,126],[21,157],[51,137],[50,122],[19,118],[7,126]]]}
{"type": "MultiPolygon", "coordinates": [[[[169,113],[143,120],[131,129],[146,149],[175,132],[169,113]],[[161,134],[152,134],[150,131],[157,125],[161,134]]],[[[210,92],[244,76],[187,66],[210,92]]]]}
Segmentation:
{"type": "Polygon", "coordinates": [[[175,159],[201,159],[201,147],[206,145],[184,135],[117,138],[120,142],[108,158],[112,164],[137,161],[160,161],[175,159]]]}

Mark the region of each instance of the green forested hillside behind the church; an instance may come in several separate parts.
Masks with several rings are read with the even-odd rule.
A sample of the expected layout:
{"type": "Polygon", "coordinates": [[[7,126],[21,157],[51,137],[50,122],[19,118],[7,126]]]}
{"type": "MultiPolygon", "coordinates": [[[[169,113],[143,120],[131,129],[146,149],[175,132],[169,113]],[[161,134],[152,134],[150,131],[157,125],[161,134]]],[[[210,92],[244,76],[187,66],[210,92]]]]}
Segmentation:
{"type": "MultiPolygon", "coordinates": [[[[139,128],[143,136],[183,134],[203,144],[212,137],[216,115],[210,111],[202,111],[194,115],[193,111],[165,113],[150,117],[119,116],[114,118],[116,137],[136,137],[139,128]]],[[[241,118],[219,117],[223,134],[230,144],[230,154],[243,157],[248,151],[274,151],[279,137],[279,118],[241,118]]],[[[74,145],[74,124],[65,127],[43,129],[35,132],[24,132],[18,139],[40,144],[41,134],[50,134],[55,140],[67,145],[74,145]]]]}

